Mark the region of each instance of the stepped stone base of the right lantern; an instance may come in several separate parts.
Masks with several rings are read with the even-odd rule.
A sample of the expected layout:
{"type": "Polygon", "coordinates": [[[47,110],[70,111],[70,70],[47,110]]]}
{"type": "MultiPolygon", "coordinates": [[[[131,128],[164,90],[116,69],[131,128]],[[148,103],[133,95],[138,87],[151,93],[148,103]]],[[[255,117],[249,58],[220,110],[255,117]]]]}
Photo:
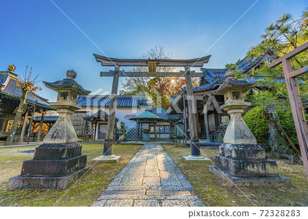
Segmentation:
{"type": "Polygon", "coordinates": [[[229,183],[244,186],[290,185],[290,178],[279,176],[277,162],[266,159],[264,148],[257,144],[222,143],[220,155],[209,171],[229,183]]]}

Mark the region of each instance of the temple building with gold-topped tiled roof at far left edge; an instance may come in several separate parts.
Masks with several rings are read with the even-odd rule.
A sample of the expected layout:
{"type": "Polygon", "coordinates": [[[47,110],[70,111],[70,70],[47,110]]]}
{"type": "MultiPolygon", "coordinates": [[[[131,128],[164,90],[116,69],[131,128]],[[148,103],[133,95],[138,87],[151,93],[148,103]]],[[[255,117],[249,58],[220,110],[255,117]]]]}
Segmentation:
{"type": "MultiPolygon", "coordinates": [[[[15,66],[10,65],[8,70],[0,71],[0,140],[5,141],[13,124],[18,105],[21,100],[21,90],[18,87],[18,75],[14,72],[15,66]]],[[[28,93],[26,108],[15,134],[16,141],[26,141],[27,137],[35,141],[41,140],[42,124],[38,124],[38,132],[35,134],[29,132],[29,124],[33,122],[32,115],[40,113],[44,117],[46,111],[55,111],[55,108],[49,105],[47,99],[40,97],[36,93],[28,93]]]]}

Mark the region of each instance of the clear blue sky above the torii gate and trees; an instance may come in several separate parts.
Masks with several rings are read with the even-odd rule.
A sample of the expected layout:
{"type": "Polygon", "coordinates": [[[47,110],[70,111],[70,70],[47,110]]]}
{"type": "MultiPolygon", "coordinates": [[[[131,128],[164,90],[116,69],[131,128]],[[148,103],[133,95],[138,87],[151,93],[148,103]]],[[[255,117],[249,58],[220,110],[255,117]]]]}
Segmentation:
{"type": "MultiPolygon", "coordinates": [[[[60,1],[53,0],[110,57],[140,58],[155,45],[174,58],[198,58],[238,20],[255,0],[245,1],[60,1]]],[[[281,14],[298,17],[303,0],[259,0],[206,55],[205,67],[222,68],[244,58],[261,34],[281,14]]],[[[53,82],[77,72],[85,89],[111,90],[112,78],[101,78],[92,54],[102,54],[50,0],[2,1],[0,7],[0,70],[13,63],[16,73],[33,67],[40,80],[53,82]]],[[[102,54],[103,55],[103,54],[102,54]]],[[[56,93],[40,83],[40,95],[56,93]]]]}

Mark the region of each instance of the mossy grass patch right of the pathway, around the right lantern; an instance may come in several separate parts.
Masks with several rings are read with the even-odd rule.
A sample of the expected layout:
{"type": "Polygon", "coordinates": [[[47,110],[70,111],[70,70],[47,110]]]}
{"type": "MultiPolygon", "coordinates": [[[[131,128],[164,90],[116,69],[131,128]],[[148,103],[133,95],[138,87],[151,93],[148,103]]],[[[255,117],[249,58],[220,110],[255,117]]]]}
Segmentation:
{"type": "MultiPolygon", "coordinates": [[[[290,187],[240,187],[228,185],[209,172],[211,161],[185,161],[182,156],[190,154],[190,148],[163,146],[179,170],[190,181],[196,195],[205,206],[307,206],[308,183],[303,165],[290,165],[277,160],[279,174],[291,179],[290,187]],[[242,190],[242,192],[240,191],[242,190]]],[[[202,149],[214,161],[219,150],[202,149]]]]}

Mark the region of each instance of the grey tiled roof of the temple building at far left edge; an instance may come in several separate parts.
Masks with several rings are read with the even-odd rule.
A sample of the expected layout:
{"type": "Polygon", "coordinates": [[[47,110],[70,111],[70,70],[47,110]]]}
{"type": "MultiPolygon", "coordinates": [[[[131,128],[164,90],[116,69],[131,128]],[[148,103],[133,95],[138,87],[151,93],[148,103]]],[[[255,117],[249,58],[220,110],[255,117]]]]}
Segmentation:
{"type": "MultiPolygon", "coordinates": [[[[0,87],[0,93],[3,93],[3,95],[9,95],[18,99],[21,98],[21,90],[16,84],[16,80],[11,78],[9,73],[5,73],[5,71],[0,72],[0,87]]],[[[26,102],[31,104],[35,104],[37,102],[37,104],[40,106],[55,110],[55,108],[49,105],[47,99],[40,97],[36,93],[29,92],[27,94],[26,102]]]]}

